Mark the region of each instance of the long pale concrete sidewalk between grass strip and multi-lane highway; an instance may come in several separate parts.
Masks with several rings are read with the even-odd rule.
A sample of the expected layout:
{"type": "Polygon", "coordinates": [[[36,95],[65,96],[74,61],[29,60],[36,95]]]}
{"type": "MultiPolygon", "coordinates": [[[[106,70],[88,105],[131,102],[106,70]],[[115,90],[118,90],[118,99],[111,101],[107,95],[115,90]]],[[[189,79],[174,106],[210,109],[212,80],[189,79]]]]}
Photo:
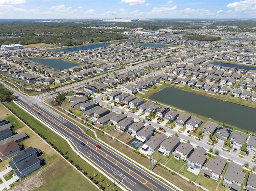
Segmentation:
{"type": "MultiPolygon", "coordinates": [[[[68,140],[66,137],[62,136],[59,132],[57,132],[56,130],[54,130],[53,128],[51,128],[50,126],[48,126],[48,124],[46,124],[44,121],[40,120],[38,117],[36,117],[35,115],[33,115],[31,112],[29,112],[26,108],[23,108],[22,106],[20,106],[20,104],[16,103],[14,101],[14,103],[19,106],[20,108],[22,108],[24,111],[26,111],[27,113],[29,113],[31,116],[33,116],[34,118],[36,118],[39,122],[41,122],[42,124],[44,124],[46,127],[48,127],[50,130],[52,130],[53,132],[55,132],[56,134],[58,134],[58,136],[60,136],[61,138],[63,138],[64,140],[66,140],[66,142],[68,143],[68,145],[70,146],[70,148],[78,155],[80,156],[82,159],[84,159],[84,161],[86,161],[88,164],[90,164],[92,167],[94,167],[96,170],[98,170],[100,173],[102,173],[102,175],[104,175],[106,178],[108,178],[110,181],[112,181],[114,183],[114,179],[112,179],[112,177],[110,177],[108,174],[106,174],[104,171],[102,171],[100,168],[98,168],[97,166],[95,166],[93,163],[91,163],[88,159],[86,159],[84,156],[82,156],[82,154],[80,154],[80,152],[78,152],[73,144],[70,143],[70,140],[68,140]]],[[[62,156],[63,157],[63,156],[62,156]]],[[[73,166],[73,165],[72,165],[73,166]]],[[[74,166],[73,166],[74,167],[74,166]]],[[[76,167],[74,167],[76,168],[76,167]]],[[[82,175],[83,173],[80,172],[82,175]]],[[[85,176],[86,177],[86,176],[85,176]]],[[[88,178],[88,177],[86,177],[88,178]]],[[[94,184],[95,185],[95,184],[94,184]]],[[[96,186],[96,185],[95,185],[96,186]]],[[[97,187],[97,186],[96,186],[97,187]]],[[[120,189],[122,189],[123,191],[128,191],[127,189],[125,189],[124,187],[122,187],[121,185],[118,185],[118,187],[120,187],[120,189]]]]}

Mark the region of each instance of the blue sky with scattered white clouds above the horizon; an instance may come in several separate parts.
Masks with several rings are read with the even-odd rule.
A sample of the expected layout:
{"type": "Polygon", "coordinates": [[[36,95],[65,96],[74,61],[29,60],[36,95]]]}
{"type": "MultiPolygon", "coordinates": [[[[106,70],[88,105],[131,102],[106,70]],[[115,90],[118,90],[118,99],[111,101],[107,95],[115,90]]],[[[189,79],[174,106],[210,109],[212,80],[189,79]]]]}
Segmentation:
{"type": "Polygon", "coordinates": [[[256,0],[0,0],[0,19],[248,19],[256,0]]]}

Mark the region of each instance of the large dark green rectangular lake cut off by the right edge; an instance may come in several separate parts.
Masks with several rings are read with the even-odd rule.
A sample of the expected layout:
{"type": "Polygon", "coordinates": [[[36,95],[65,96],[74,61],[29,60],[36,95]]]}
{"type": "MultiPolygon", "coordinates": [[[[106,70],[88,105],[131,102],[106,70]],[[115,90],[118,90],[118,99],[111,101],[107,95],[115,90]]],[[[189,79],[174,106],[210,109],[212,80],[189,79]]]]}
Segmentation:
{"type": "Polygon", "coordinates": [[[256,109],[216,98],[166,87],[149,97],[156,102],[256,132],[256,109]],[[168,95],[168,96],[167,96],[168,95]]]}

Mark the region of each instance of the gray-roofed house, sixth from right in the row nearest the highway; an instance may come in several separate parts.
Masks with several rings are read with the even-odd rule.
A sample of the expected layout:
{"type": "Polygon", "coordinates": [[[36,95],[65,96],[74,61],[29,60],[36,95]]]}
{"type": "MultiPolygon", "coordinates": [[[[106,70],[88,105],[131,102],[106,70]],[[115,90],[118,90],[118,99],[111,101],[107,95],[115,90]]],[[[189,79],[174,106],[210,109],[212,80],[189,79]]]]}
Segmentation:
{"type": "Polygon", "coordinates": [[[170,139],[165,139],[158,149],[158,152],[164,156],[170,156],[172,152],[179,146],[180,138],[172,136],[170,139]]]}

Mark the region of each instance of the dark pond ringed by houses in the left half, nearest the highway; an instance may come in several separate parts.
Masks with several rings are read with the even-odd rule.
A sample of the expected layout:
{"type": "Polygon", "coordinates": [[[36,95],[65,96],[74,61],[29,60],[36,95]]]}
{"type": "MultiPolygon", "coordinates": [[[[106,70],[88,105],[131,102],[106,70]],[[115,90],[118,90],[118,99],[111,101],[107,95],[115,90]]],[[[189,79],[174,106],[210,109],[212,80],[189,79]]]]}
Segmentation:
{"type": "Polygon", "coordinates": [[[78,64],[74,64],[58,58],[29,58],[28,60],[42,64],[42,65],[50,66],[58,70],[79,66],[78,64]]]}

